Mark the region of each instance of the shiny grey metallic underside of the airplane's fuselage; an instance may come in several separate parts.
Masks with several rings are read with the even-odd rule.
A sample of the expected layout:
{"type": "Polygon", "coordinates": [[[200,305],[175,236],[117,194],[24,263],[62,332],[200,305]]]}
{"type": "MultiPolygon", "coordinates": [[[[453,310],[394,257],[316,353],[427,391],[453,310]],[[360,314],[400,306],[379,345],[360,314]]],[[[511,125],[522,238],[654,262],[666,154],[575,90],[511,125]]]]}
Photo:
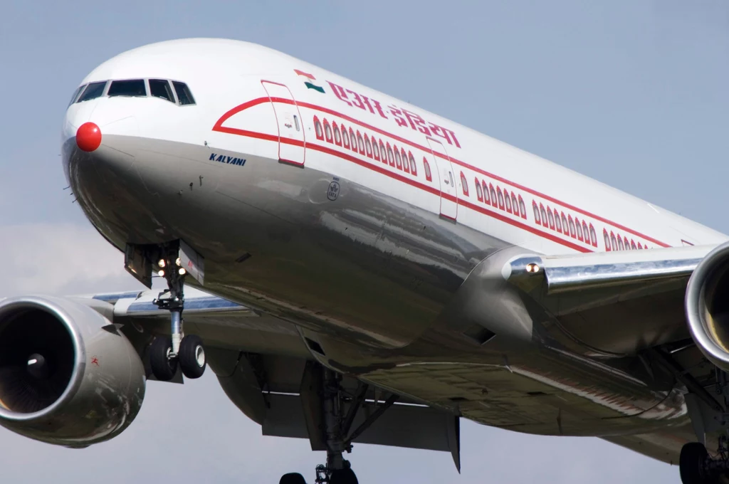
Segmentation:
{"type": "Polygon", "coordinates": [[[93,154],[71,139],[63,151],[79,205],[114,246],[182,239],[206,259],[206,291],[295,332],[261,347],[235,324],[196,323],[208,345],[298,345],[413,402],[519,432],[606,437],[664,461],[695,439],[679,383],[642,353],[686,339],[683,321],[609,312],[644,297],[680,308],[685,281],[555,307],[546,287],[504,278],[523,249],[351,180],[216,149],[246,158],[223,165],[208,147],[145,138],[107,136],[93,154]],[[609,298],[596,324],[590,308],[609,298]]]}

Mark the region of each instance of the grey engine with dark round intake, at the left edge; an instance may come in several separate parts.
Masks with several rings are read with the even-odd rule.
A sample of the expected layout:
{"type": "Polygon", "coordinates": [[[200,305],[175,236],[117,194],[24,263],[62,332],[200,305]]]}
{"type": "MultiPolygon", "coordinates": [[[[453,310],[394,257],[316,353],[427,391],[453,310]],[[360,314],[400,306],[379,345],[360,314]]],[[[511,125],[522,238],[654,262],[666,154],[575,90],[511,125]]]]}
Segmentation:
{"type": "Polygon", "coordinates": [[[144,399],[129,340],[87,305],[58,297],[0,302],[0,425],[67,447],[124,430],[144,399]]]}

